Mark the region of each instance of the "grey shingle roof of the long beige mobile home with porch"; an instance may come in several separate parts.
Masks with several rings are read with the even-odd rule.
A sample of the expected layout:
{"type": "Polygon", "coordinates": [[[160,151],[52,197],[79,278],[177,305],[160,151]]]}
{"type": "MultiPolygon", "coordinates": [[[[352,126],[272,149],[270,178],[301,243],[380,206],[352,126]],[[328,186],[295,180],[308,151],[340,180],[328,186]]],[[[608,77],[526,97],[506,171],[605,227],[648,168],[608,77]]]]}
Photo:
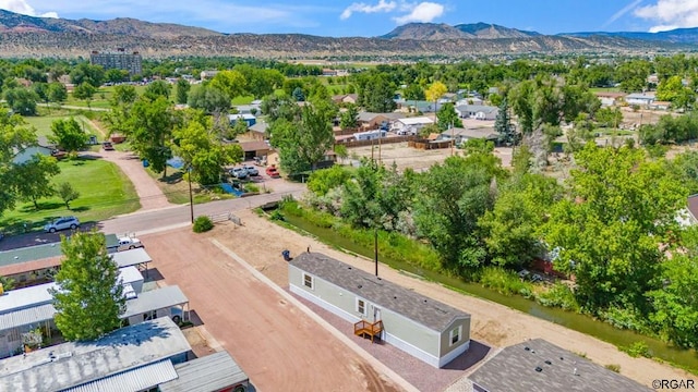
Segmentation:
{"type": "Polygon", "coordinates": [[[293,258],[290,264],[437,332],[446,330],[457,318],[470,318],[470,315],[465,311],[323,254],[303,253],[293,258]]]}

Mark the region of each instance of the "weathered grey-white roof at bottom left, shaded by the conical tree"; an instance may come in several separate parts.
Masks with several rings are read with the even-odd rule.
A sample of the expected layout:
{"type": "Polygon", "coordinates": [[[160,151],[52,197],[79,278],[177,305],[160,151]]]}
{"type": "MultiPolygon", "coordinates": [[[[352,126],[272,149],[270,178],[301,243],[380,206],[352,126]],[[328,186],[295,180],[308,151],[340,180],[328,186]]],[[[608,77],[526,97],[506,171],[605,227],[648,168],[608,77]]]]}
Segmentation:
{"type": "Polygon", "coordinates": [[[168,317],[116,330],[93,342],[70,342],[0,360],[8,391],[62,391],[191,351],[168,317]]]}

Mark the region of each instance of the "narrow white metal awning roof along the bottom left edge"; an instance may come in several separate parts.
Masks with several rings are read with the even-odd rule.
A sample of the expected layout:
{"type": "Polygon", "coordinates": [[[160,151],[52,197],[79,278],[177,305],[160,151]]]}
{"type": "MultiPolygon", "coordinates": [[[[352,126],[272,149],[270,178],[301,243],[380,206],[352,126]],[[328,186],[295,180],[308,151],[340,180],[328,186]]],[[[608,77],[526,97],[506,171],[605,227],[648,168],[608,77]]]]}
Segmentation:
{"type": "Polygon", "coordinates": [[[169,359],[142,366],[118,375],[105,377],[61,392],[124,392],[147,391],[163,382],[177,378],[177,371],[169,359]]]}

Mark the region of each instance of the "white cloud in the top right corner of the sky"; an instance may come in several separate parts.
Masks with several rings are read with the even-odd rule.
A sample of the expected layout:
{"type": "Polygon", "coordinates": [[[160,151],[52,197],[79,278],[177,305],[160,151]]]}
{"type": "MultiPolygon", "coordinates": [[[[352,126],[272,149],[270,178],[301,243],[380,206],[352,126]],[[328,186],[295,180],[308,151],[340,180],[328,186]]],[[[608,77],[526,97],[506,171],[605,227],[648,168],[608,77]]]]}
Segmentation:
{"type": "Polygon", "coordinates": [[[698,26],[698,1],[657,0],[653,5],[640,7],[635,15],[657,23],[650,32],[665,32],[678,27],[698,26]]]}

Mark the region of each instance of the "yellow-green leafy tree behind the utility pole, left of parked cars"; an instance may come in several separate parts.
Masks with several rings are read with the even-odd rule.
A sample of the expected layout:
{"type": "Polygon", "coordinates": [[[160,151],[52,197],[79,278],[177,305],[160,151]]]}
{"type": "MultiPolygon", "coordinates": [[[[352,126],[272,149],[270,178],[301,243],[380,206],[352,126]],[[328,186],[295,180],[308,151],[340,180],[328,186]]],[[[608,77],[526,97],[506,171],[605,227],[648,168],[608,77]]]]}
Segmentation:
{"type": "Polygon", "coordinates": [[[192,120],[174,131],[174,151],[182,158],[184,166],[191,168],[192,176],[202,185],[218,184],[221,167],[238,163],[242,161],[243,156],[240,145],[221,145],[217,137],[206,130],[210,126],[209,120],[192,120]]]}

